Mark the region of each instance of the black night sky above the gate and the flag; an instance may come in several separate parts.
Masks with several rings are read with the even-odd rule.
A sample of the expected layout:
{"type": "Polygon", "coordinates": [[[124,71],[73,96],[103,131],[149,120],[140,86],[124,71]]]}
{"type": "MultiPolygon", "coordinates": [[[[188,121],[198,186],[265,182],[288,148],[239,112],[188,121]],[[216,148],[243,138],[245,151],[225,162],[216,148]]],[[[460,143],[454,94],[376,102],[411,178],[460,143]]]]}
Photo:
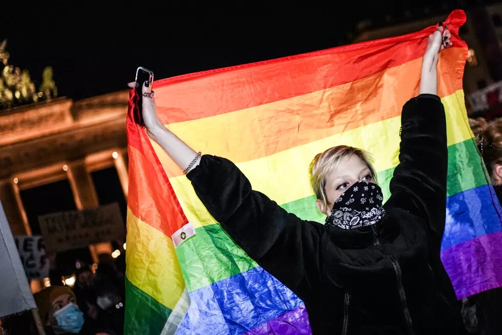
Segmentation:
{"type": "Polygon", "coordinates": [[[494,2],[372,3],[365,7],[350,1],[338,8],[337,2],[328,6],[327,2],[294,5],[291,1],[283,7],[239,2],[239,8],[226,8],[229,13],[224,14],[215,7],[171,4],[161,8],[137,2],[137,9],[129,9],[127,15],[126,4],[120,5],[122,9],[104,8],[109,5],[97,2],[81,8],[51,4],[49,13],[26,5],[23,10],[17,6],[0,13],[0,40],[8,39],[9,63],[28,69],[37,86],[43,68],[52,66],[59,96],[78,100],[127,89],[138,66],[153,70],[155,78],[161,79],[269,60],[348,44],[349,34],[357,33],[357,23],[363,19],[382,26],[410,17],[446,17],[455,8],[494,2]]]}

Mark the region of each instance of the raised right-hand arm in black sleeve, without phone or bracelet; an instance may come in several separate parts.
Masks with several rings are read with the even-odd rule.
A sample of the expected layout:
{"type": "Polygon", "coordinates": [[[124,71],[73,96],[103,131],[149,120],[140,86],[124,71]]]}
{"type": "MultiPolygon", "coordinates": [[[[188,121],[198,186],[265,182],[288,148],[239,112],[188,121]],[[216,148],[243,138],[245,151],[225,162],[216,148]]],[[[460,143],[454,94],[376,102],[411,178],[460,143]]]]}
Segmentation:
{"type": "Polygon", "coordinates": [[[437,96],[436,65],[438,52],[451,46],[449,36],[441,26],[429,36],[420,95],[403,107],[400,164],[394,170],[392,195],[386,204],[423,218],[438,239],[446,218],[448,148],[445,110],[437,96]]]}

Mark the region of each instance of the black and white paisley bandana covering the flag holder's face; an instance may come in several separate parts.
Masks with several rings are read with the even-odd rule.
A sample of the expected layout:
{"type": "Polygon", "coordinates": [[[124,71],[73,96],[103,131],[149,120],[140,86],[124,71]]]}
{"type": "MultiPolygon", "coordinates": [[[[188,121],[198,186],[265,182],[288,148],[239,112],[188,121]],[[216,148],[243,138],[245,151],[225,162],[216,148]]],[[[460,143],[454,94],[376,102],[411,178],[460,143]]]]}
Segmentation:
{"type": "Polygon", "coordinates": [[[380,186],[359,181],[345,190],[334,202],[326,224],[342,229],[373,225],[386,214],[382,206],[383,200],[380,186]]]}

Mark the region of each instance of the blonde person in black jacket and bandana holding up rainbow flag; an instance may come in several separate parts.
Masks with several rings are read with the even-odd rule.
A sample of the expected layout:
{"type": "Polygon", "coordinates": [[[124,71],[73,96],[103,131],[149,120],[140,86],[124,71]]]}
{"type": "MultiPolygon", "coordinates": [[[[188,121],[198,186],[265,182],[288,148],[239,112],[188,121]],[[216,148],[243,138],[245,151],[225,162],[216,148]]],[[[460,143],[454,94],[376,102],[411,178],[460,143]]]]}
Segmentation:
{"type": "Polygon", "coordinates": [[[420,94],[403,107],[400,164],[385,204],[366,152],[336,146],[315,156],[311,183],[324,225],[301,220],[253,190],[232,162],[187,146],[159,121],[154,93],[143,85],[151,139],[249,257],[305,302],[315,334],[460,332],[440,259],[448,150],[436,65],[440,50],[450,46],[440,24],[428,38],[420,94]]]}

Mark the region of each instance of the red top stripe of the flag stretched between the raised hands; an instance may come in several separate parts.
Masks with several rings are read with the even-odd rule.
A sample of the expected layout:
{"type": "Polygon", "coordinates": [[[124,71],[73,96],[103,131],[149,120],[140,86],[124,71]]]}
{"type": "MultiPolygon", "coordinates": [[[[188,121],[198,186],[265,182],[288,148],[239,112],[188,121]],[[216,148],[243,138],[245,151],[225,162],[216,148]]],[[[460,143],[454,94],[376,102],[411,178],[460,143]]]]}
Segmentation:
{"type": "MultiPolygon", "coordinates": [[[[409,50],[425,50],[427,39],[423,37],[433,30],[429,27],[406,36],[158,81],[154,89],[159,117],[163,124],[190,121],[351,83],[421,59],[422,51],[410,53],[409,50]],[[362,48],[365,57],[361,57],[362,48]],[[378,58],[368,56],[376,53],[378,58]],[[236,77],[241,81],[237,90],[236,77]],[[225,94],[229,82],[232,83],[232,96],[225,94]],[[227,98],[223,98],[225,96],[227,98]]],[[[458,40],[456,34],[452,35],[454,47],[449,48],[449,52],[466,52],[465,42],[458,40]]],[[[462,87],[461,76],[458,81],[454,85],[456,88],[462,87]]]]}

